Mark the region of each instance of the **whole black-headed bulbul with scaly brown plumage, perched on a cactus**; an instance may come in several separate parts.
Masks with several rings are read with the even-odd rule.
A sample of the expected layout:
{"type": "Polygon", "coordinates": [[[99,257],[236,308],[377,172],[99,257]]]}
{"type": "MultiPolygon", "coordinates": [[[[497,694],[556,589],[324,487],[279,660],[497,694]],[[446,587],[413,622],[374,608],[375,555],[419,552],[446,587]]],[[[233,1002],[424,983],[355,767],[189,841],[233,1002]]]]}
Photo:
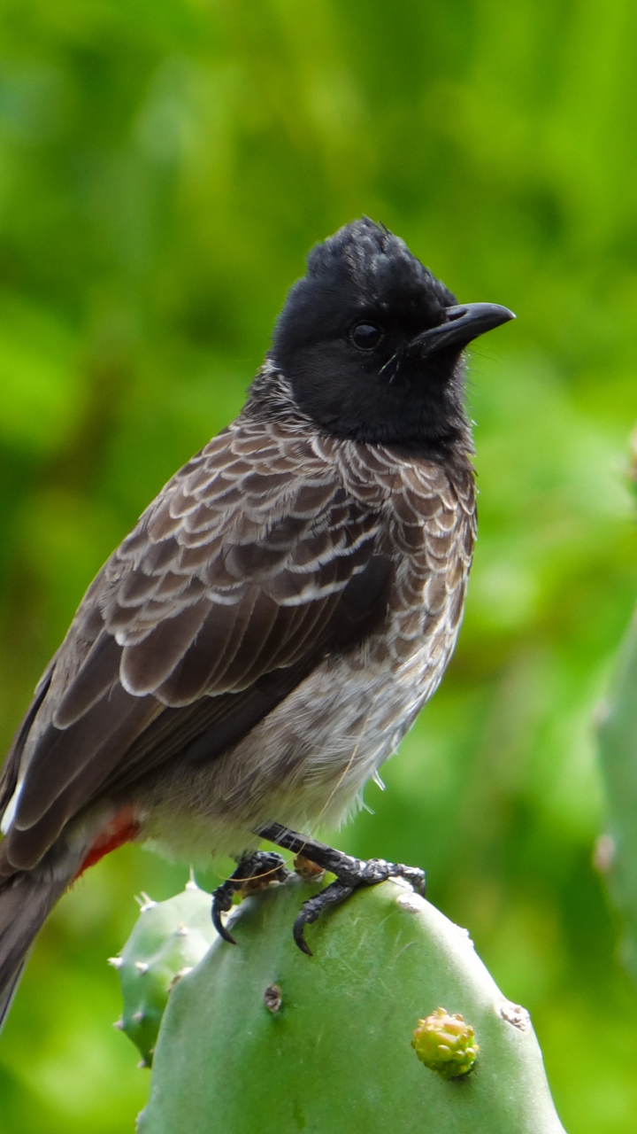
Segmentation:
{"type": "Polygon", "coordinates": [[[441,680],[475,538],[464,348],[513,318],[458,305],[364,218],[309,254],[236,421],[112,553],[36,687],[0,781],[0,1007],[49,911],[128,840],[241,879],[303,850],[318,909],[409,868],[338,823],[441,680]],[[243,857],[241,857],[243,856],[243,857]]]}

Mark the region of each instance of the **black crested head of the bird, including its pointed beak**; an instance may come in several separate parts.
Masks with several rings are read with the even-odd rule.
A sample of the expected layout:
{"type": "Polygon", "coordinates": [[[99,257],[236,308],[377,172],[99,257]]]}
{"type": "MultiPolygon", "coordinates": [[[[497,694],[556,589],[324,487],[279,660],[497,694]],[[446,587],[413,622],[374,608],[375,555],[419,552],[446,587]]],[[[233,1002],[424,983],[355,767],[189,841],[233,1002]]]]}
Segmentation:
{"type": "Polygon", "coordinates": [[[467,435],[462,349],[511,312],[456,298],[367,218],[315,247],[271,361],[299,408],[338,437],[444,450],[467,435]]]}

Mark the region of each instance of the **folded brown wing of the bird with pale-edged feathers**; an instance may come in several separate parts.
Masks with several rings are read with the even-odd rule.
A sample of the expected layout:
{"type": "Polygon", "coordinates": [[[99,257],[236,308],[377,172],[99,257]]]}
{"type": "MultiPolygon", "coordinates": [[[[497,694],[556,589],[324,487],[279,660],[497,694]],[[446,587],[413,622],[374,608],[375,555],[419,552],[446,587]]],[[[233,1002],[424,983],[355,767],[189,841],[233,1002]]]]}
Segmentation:
{"type": "Polygon", "coordinates": [[[336,445],[239,420],[111,556],[20,741],[15,868],[107,785],[230,746],[370,624],[390,566],[374,553],[382,492],[377,508],[347,493],[336,445]]]}

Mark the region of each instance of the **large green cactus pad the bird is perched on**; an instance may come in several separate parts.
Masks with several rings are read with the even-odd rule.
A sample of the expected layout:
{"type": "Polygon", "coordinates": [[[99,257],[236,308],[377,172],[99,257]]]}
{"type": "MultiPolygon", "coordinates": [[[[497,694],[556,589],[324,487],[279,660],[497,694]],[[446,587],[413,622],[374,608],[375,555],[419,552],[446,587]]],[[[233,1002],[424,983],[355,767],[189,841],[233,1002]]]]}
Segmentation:
{"type": "Polygon", "coordinates": [[[292,878],[244,899],[237,946],[218,938],[176,985],[139,1134],[563,1134],[528,1014],[467,932],[392,880],[309,926],[307,957],[290,930],[318,889],[292,878]],[[470,1075],[413,1049],[441,1004],[470,1075]]]}

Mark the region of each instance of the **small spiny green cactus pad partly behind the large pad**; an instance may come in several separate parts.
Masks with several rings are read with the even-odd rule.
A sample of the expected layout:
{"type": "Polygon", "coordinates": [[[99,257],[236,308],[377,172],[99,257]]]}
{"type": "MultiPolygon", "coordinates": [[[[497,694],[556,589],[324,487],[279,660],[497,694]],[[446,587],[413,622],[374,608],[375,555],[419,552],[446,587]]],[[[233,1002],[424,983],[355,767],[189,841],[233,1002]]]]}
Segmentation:
{"type": "Polygon", "coordinates": [[[146,895],[141,916],[119,957],[110,957],[121,984],[124,1012],[114,1026],[126,1032],[150,1067],[168,997],[182,975],[202,959],[216,937],[211,897],[194,880],[168,902],[146,895]]]}

